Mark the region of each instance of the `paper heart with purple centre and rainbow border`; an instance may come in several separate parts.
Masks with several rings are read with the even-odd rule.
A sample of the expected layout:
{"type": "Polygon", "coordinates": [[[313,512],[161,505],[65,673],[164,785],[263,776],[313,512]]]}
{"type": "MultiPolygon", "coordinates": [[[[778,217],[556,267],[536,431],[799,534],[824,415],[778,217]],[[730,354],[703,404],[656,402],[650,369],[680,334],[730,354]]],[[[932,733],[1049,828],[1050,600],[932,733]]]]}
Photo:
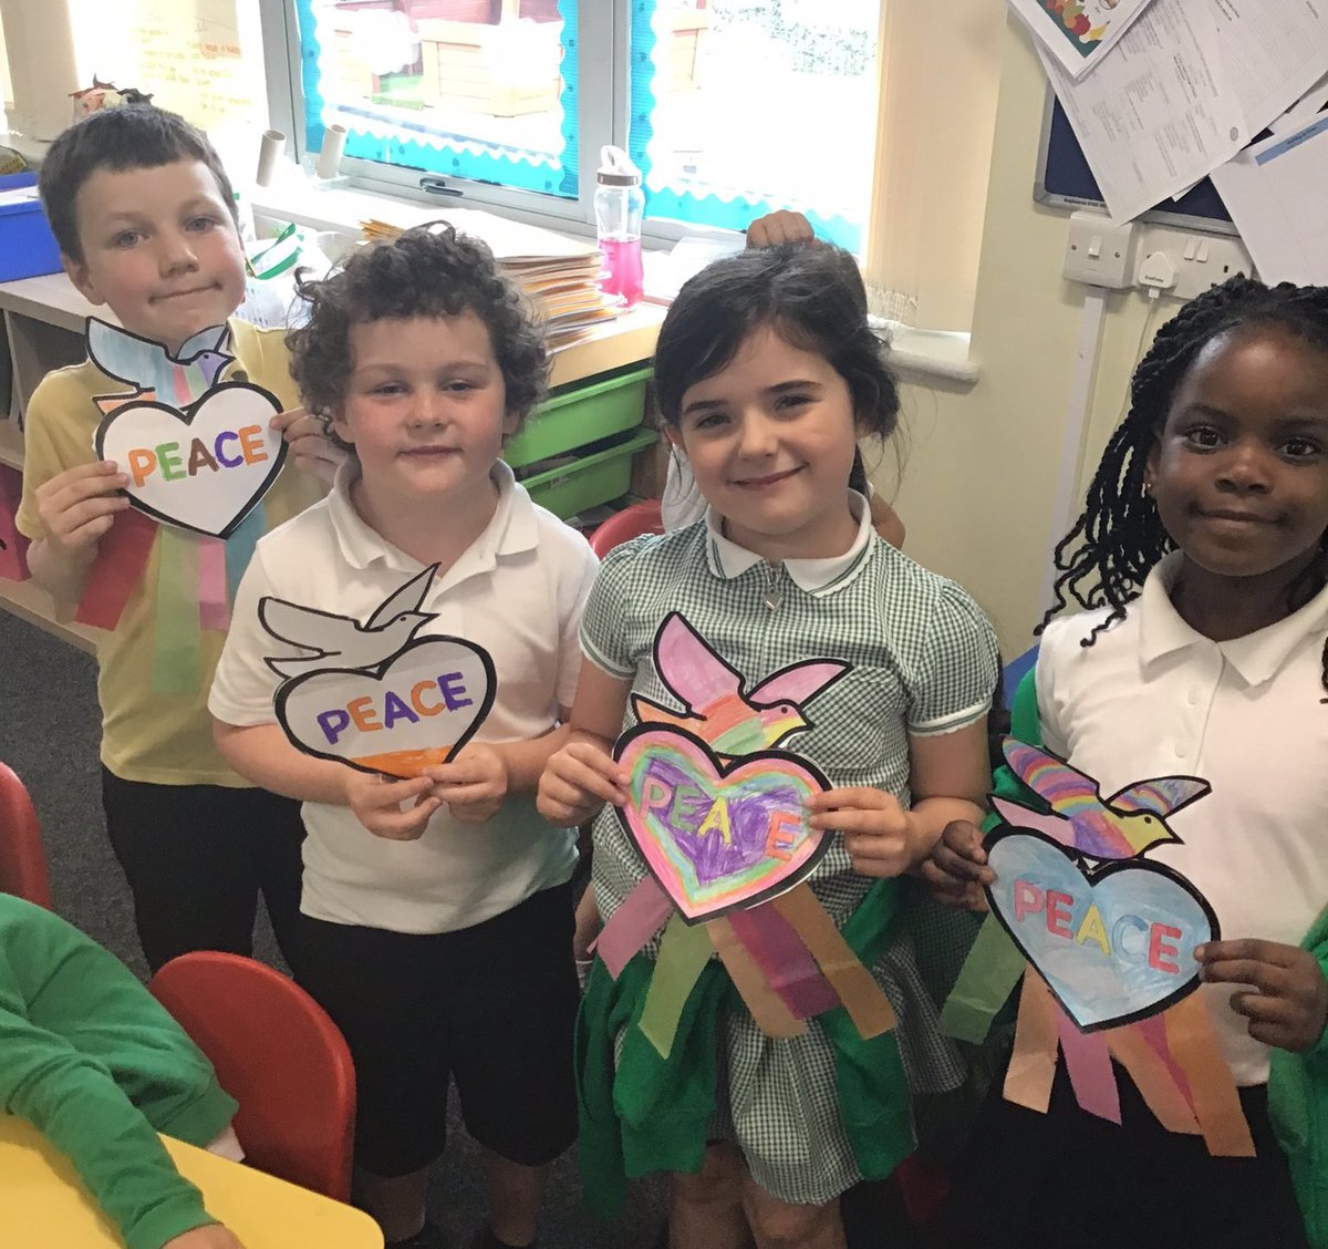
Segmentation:
{"type": "Polygon", "coordinates": [[[699,737],[639,724],[614,757],[627,768],[627,834],[688,923],[744,910],[805,880],[830,848],[806,801],[829,781],[784,751],[729,767],[699,737]]]}

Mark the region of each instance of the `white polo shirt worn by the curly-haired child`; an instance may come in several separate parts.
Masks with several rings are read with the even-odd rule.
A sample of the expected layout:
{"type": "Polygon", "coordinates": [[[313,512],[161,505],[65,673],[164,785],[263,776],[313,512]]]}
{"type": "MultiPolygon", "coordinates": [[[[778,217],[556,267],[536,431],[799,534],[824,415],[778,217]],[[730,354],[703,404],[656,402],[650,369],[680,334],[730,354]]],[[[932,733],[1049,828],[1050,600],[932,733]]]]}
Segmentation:
{"type": "MultiPolygon", "coordinates": [[[[263,630],[263,595],[364,621],[422,570],[356,513],[355,472],[347,465],[327,498],[258,543],[207,704],[218,720],[274,723],[279,678],[263,659],[300,654],[263,630]]],[[[493,521],[434,579],[422,610],[437,619],[417,635],[466,638],[493,656],[497,696],[478,741],[537,737],[558,723],[559,706],[571,706],[596,566],[586,539],[533,504],[506,464],[494,465],[494,481],[493,521]]],[[[510,796],[485,824],[458,824],[444,808],[417,841],[374,837],[349,808],[323,803],[304,804],[304,824],[301,910],[398,933],[481,923],[566,881],[576,858],[572,833],[542,820],[533,793],[510,796]]]]}

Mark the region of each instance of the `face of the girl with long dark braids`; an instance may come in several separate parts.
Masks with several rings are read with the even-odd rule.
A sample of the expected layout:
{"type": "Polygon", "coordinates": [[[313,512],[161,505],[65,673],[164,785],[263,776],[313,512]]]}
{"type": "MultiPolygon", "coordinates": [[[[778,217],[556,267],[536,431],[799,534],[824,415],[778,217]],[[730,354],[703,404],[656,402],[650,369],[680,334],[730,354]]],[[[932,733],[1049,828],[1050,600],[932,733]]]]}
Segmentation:
{"type": "Polygon", "coordinates": [[[1328,352],[1279,326],[1210,341],[1149,456],[1158,514],[1218,577],[1293,577],[1328,530],[1328,352]]]}

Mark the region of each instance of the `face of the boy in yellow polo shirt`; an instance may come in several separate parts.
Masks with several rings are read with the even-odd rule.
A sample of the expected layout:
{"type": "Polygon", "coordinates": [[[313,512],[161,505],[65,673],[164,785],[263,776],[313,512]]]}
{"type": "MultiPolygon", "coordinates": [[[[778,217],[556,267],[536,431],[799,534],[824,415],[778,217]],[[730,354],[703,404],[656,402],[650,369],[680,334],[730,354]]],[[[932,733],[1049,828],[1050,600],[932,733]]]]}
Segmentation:
{"type": "Polygon", "coordinates": [[[202,161],[98,169],[76,201],[82,259],[74,286],[126,330],[170,351],[224,324],[244,298],[244,254],[230,207],[202,161]]]}

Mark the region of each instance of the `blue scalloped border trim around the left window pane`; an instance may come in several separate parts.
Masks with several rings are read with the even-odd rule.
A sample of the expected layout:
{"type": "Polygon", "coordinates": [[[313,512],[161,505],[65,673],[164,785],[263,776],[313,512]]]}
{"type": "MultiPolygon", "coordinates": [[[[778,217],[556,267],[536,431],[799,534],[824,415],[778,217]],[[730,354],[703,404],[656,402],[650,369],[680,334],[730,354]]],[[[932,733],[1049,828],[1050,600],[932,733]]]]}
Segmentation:
{"type": "MultiPolygon", "coordinates": [[[[578,174],[578,77],[579,77],[579,25],[576,0],[560,0],[559,15],[563,19],[563,92],[559,102],[563,106],[562,138],[563,149],[554,158],[554,163],[546,163],[548,153],[523,153],[518,147],[499,147],[487,153],[463,151],[456,147],[436,147],[433,144],[418,140],[385,140],[353,126],[347,126],[345,153],[364,161],[378,161],[385,165],[408,166],[425,173],[450,174],[454,178],[471,178],[477,182],[494,182],[499,186],[511,186],[519,190],[539,191],[546,195],[558,195],[564,199],[575,199],[580,191],[580,178],[578,174]]],[[[321,73],[319,70],[319,54],[321,47],[317,39],[317,20],[313,12],[313,0],[299,0],[297,19],[300,28],[300,78],[304,88],[304,142],[305,146],[319,149],[323,146],[323,109],[327,101],[323,98],[321,73]]],[[[349,118],[356,112],[367,114],[367,110],[341,108],[349,118]]],[[[422,126],[412,126],[409,122],[393,121],[401,129],[424,130],[422,126]]],[[[433,132],[430,132],[433,134],[433,132]]],[[[446,142],[457,141],[479,142],[466,136],[437,134],[438,140],[446,142]]]]}

